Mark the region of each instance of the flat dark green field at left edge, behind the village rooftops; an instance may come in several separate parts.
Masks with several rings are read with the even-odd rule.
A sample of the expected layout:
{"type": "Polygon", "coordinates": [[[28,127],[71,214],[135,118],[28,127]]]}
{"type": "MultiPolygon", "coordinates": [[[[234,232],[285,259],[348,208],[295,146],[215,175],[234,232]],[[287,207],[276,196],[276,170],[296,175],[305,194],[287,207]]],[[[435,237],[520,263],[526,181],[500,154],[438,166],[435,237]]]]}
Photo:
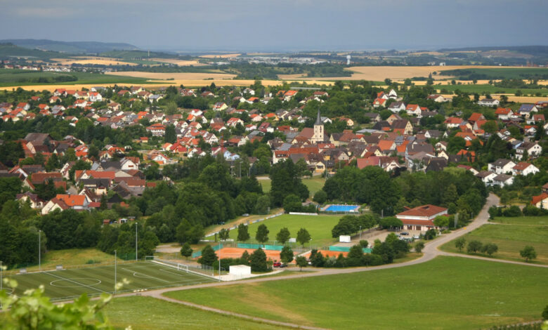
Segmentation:
{"type": "Polygon", "coordinates": [[[28,70],[0,69],[0,86],[26,85],[74,85],[74,84],[154,84],[150,79],[115,76],[91,72],[36,72],[28,70]],[[52,81],[56,77],[74,76],[74,81],[52,81]]]}

